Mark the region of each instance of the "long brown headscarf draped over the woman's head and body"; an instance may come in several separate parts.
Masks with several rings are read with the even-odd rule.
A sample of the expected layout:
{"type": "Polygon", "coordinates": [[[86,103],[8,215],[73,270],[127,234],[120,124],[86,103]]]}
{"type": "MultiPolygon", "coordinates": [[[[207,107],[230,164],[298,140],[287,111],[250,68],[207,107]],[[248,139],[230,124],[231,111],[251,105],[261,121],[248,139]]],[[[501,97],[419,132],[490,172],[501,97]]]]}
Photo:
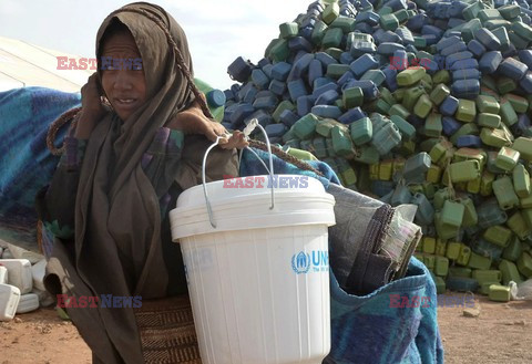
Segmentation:
{"type": "MultiPolygon", "coordinates": [[[[158,197],[142,169],[141,158],[157,129],[197,98],[197,89],[191,86],[183,70],[187,67],[192,74],[185,34],[162,8],[136,2],[111,13],[98,31],[96,55],[101,54],[102,37],[113,19],[125,24],[136,42],[147,101],[126,123],[109,113],[93,129],[75,200],[75,257],[71,259],[61,247],[54,248],[49,271],[61,277],[63,291],[75,295],[141,295],[147,300],[164,297],[168,279],[162,253],[158,197]],[[153,17],[156,21],[150,19],[153,17]],[[157,23],[164,24],[181,54],[175,54],[157,23]],[[176,64],[178,56],[182,64],[176,64]]],[[[194,165],[200,157],[196,154],[208,146],[208,141],[200,139],[192,138],[195,142],[188,152],[183,152],[192,155],[184,166],[194,165]],[[194,158],[196,162],[191,162],[194,158]]],[[[231,164],[229,158],[218,159],[218,168],[223,168],[223,160],[231,164]]],[[[191,180],[194,171],[191,175],[188,168],[187,175],[185,169],[170,177],[191,180]]],[[[133,310],[73,309],[69,313],[102,362],[143,362],[133,310]]]]}

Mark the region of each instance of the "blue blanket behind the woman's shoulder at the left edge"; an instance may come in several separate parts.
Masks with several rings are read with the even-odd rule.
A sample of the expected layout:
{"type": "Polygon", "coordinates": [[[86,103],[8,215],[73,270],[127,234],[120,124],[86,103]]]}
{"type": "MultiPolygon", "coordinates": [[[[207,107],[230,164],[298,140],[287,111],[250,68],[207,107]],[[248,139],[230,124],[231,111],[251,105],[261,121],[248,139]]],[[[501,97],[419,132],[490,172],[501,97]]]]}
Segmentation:
{"type": "Polygon", "coordinates": [[[48,127],[80,101],[79,93],[43,87],[0,92],[0,239],[37,250],[34,198],[59,162],[47,149],[48,127]]]}

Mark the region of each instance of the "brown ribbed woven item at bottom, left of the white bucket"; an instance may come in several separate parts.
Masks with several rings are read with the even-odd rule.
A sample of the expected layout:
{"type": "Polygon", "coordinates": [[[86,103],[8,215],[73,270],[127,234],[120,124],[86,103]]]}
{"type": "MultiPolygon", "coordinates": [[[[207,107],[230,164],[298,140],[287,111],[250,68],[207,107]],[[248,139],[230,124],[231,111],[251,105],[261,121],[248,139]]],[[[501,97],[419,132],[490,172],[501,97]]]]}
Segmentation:
{"type": "Polygon", "coordinates": [[[135,316],[145,363],[202,363],[187,295],[143,301],[135,316]]]}

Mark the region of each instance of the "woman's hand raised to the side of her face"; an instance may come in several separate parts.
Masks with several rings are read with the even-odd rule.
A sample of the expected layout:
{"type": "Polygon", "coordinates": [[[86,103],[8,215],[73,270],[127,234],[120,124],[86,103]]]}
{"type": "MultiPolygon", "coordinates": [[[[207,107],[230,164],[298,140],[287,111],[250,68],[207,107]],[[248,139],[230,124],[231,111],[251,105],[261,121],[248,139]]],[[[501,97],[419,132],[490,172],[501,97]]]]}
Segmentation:
{"type": "Polygon", "coordinates": [[[83,87],[81,87],[81,115],[75,127],[74,136],[80,139],[86,139],[96,123],[101,121],[106,113],[102,104],[102,87],[100,86],[96,72],[94,72],[83,87]]]}

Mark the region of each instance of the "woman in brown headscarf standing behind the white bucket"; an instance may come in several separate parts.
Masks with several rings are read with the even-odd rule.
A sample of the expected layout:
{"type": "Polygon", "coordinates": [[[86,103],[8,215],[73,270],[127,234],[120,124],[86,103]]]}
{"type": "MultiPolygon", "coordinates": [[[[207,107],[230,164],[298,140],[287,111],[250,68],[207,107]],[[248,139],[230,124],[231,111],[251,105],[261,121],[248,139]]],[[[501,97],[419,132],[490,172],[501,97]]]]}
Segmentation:
{"type": "MultiPolygon", "coordinates": [[[[186,294],[167,211],[198,184],[206,148],[226,132],[204,115],[186,37],[162,8],[136,2],[111,13],[98,31],[96,56],[99,71],[82,89],[65,153],[38,196],[45,232],[54,237],[47,289],[74,301],[186,294]]],[[[223,143],[208,158],[211,180],[238,173],[234,147],[246,145],[242,133],[223,143]]],[[[133,309],[100,304],[68,313],[94,363],[145,361],[133,309]]]]}

